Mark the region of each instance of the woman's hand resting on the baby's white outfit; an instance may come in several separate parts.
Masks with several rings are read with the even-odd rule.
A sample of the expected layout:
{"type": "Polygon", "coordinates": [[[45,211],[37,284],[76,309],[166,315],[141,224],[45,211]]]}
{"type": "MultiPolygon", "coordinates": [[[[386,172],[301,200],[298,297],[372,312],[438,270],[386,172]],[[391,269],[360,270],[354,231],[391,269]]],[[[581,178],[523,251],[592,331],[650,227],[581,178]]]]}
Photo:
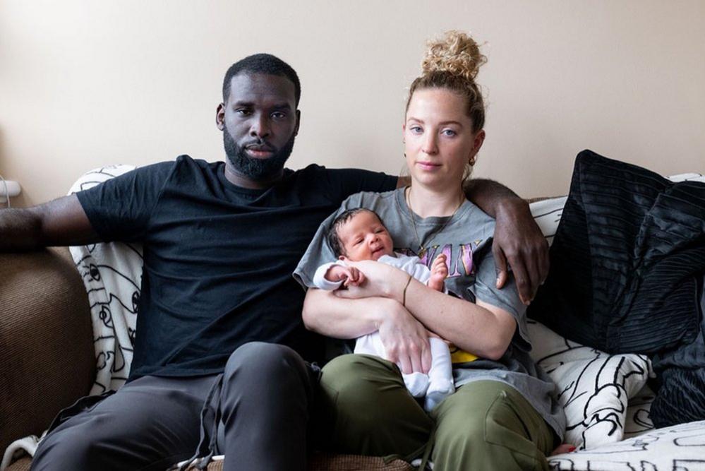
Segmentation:
{"type": "Polygon", "coordinates": [[[427,374],[431,364],[428,342],[431,334],[399,302],[380,301],[387,301],[384,303],[384,320],[379,326],[387,359],[398,364],[404,374],[414,371],[427,374]]]}

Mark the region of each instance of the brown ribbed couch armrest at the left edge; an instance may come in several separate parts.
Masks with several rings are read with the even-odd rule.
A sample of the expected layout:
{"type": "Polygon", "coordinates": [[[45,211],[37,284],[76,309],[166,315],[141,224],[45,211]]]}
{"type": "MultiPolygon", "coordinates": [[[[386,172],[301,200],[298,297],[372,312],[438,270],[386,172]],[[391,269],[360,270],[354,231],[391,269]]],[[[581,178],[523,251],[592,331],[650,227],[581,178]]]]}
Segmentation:
{"type": "Polygon", "coordinates": [[[0,455],[90,390],[88,296],[68,249],[0,254],[0,455]]]}

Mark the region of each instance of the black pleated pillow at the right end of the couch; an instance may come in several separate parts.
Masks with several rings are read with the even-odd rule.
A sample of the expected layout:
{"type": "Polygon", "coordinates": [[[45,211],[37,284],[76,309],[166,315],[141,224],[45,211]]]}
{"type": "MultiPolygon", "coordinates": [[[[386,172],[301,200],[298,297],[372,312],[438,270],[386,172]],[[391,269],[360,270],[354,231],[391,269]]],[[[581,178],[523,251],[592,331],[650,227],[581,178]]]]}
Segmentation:
{"type": "MultiPolygon", "coordinates": [[[[550,261],[548,280],[529,306],[531,318],[605,352],[649,354],[660,374],[705,368],[705,348],[699,347],[705,184],[673,183],[584,150],[550,261]],[[687,355],[678,353],[685,350],[687,355]]],[[[705,388],[705,374],[671,373],[664,380],[669,400],[691,399],[678,381],[705,388]]],[[[692,399],[694,412],[687,417],[705,419],[705,400],[692,399]]],[[[652,418],[663,410],[659,400],[652,418]]],[[[660,425],[677,422],[673,410],[662,415],[660,425]]]]}

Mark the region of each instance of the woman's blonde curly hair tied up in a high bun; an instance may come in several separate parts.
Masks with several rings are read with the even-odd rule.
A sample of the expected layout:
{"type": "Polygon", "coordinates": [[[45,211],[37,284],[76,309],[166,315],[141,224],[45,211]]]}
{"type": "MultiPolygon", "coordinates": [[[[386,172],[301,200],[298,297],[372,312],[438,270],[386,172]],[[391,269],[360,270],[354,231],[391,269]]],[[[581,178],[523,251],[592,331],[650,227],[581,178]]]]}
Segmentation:
{"type": "Polygon", "coordinates": [[[421,76],[411,83],[406,109],[416,90],[446,88],[466,97],[473,132],[480,131],[485,126],[485,103],[475,77],[486,61],[477,42],[464,32],[448,31],[440,40],[429,41],[421,61],[421,76]]]}

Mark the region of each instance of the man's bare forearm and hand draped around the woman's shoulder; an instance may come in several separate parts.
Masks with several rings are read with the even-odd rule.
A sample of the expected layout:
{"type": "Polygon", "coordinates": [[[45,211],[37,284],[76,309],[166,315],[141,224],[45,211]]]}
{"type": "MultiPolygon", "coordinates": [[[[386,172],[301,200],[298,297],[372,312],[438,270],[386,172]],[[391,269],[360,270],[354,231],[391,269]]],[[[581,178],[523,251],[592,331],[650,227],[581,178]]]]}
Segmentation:
{"type": "Polygon", "coordinates": [[[497,266],[497,287],[508,278],[512,267],[519,297],[524,304],[534,299],[548,276],[548,243],[536,225],[529,204],[514,191],[496,181],[471,179],[465,195],[496,220],[492,252],[497,266]]]}

